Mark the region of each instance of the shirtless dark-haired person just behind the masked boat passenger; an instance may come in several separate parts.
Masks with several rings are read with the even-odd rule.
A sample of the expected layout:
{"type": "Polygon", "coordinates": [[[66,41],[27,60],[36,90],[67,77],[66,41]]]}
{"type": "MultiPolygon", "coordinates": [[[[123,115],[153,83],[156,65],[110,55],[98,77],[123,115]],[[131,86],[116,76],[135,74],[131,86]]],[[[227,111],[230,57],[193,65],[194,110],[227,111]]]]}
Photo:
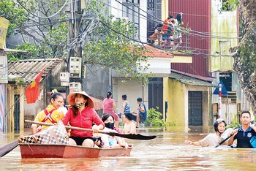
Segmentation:
{"type": "Polygon", "coordinates": [[[124,134],[135,134],[136,133],[136,123],[132,121],[132,113],[124,113],[124,134]]]}

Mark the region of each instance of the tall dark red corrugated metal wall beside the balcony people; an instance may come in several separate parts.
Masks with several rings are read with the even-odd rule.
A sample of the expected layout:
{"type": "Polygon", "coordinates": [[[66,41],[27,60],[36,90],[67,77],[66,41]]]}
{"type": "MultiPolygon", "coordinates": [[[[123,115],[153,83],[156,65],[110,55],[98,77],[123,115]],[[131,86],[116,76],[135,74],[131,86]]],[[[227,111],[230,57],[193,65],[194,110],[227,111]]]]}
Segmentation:
{"type": "MultiPolygon", "coordinates": [[[[172,69],[178,71],[187,72],[192,75],[210,76],[209,72],[209,57],[211,50],[211,38],[210,37],[200,37],[203,33],[211,33],[211,0],[169,0],[169,15],[176,15],[182,12],[182,21],[184,23],[183,27],[191,28],[188,39],[189,50],[196,50],[193,56],[192,64],[177,64],[172,63],[172,69]],[[194,32],[197,31],[197,32],[194,32]],[[203,54],[206,54],[204,56],[203,54]]],[[[183,43],[181,46],[185,47],[186,36],[182,34],[183,43]]]]}

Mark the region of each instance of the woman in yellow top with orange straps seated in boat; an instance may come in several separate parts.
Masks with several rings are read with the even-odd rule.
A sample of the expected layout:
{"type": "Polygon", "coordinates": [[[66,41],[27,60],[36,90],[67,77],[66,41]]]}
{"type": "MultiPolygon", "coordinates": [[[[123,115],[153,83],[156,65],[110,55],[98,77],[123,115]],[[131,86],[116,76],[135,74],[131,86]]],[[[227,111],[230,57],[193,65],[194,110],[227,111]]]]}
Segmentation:
{"type": "MultiPolygon", "coordinates": [[[[61,107],[61,103],[64,101],[63,96],[59,92],[55,92],[50,96],[50,104],[45,110],[39,112],[34,119],[34,121],[38,122],[46,122],[46,123],[57,123],[64,117],[64,113],[59,110],[61,107]]],[[[46,129],[48,126],[39,126],[37,124],[32,124],[31,126],[31,134],[36,134],[42,129],[46,129]]]]}

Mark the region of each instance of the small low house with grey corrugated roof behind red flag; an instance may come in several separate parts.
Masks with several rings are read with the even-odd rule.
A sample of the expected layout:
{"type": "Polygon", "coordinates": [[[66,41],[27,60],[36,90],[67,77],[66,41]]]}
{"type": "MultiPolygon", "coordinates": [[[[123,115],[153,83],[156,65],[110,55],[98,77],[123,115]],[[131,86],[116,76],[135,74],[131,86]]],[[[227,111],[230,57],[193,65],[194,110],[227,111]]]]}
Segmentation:
{"type": "Polygon", "coordinates": [[[26,125],[24,120],[33,120],[39,111],[45,109],[50,102],[50,92],[57,89],[65,98],[66,89],[61,87],[60,72],[64,72],[66,61],[60,58],[27,59],[8,62],[7,83],[7,131],[23,131],[26,125]],[[39,72],[42,78],[39,83],[40,94],[34,104],[26,103],[25,91],[39,72]]]}

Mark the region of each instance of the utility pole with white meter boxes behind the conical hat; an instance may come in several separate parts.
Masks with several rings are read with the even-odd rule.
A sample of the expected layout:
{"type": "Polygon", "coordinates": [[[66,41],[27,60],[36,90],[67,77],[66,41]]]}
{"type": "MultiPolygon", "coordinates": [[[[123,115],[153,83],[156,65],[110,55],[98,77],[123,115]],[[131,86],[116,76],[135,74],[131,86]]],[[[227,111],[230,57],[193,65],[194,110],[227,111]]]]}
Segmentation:
{"type": "MultiPolygon", "coordinates": [[[[80,20],[81,20],[81,1],[69,0],[68,7],[68,37],[67,45],[69,52],[67,54],[67,72],[69,72],[69,86],[66,88],[66,94],[69,94],[72,85],[75,83],[81,83],[82,75],[82,47],[76,43],[80,40],[80,20]],[[75,58],[74,58],[75,57],[75,58]],[[78,62],[77,62],[78,61],[78,62]],[[78,64],[80,66],[78,66],[78,64]],[[74,67],[73,67],[74,66],[74,67]],[[72,84],[73,83],[73,84],[72,84]]],[[[77,90],[75,90],[77,91],[77,90]]],[[[80,90],[78,90],[80,91],[80,90]]]]}

